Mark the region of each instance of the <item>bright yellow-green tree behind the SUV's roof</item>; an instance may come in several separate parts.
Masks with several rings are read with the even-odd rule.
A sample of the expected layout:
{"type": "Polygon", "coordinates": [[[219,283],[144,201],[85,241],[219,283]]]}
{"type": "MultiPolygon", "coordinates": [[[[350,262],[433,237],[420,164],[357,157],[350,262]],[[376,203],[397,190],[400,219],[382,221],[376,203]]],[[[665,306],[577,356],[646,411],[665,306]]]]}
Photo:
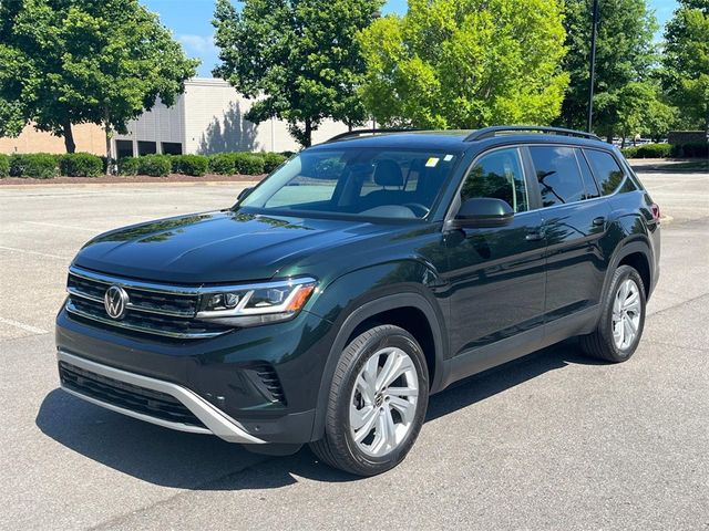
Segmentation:
{"type": "Polygon", "coordinates": [[[410,0],[360,41],[363,101],[389,126],[547,124],[568,82],[561,0],[410,0]]]}

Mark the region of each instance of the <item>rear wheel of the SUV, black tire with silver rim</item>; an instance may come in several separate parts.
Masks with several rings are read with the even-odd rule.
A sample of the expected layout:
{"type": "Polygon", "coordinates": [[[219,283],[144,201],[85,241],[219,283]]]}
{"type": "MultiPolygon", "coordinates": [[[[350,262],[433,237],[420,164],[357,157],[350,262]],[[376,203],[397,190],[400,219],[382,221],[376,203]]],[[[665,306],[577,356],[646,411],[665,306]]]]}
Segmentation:
{"type": "Polygon", "coordinates": [[[612,363],[629,360],[643,336],[645,306],[646,295],[643,279],[631,267],[620,266],[610,279],[608,292],[603,301],[598,326],[593,333],[580,337],[580,346],[584,352],[592,357],[612,363]],[[630,287],[636,290],[637,305],[630,305],[633,311],[618,312],[621,306],[620,302],[625,301],[627,305],[627,302],[631,300],[630,291],[627,291],[626,295],[621,293],[621,290],[630,287]],[[623,321],[624,315],[626,321],[623,321]],[[629,331],[634,329],[635,333],[630,339],[629,331]],[[626,334],[628,335],[626,336],[626,334]],[[619,341],[620,339],[624,341],[619,341]]]}

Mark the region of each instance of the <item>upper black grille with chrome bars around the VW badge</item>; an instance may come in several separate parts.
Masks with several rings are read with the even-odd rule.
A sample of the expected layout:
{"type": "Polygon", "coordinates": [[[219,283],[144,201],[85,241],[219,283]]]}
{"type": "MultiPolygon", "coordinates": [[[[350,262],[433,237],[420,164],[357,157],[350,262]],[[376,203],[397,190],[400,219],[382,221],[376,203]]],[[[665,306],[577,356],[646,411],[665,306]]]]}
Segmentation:
{"type": "Polygon", "coordinates": [[[230,330],[194,319],[199,302],[196,289],[114,279],[72,268],[66,291],[66,310],[75,319],[91,320],[132,333],[199,339],[230,330]],[[109,316],[103,302],[106,290],[113,284],[123,288],[129,295],[127,311],[120,320],[109,316]]]}

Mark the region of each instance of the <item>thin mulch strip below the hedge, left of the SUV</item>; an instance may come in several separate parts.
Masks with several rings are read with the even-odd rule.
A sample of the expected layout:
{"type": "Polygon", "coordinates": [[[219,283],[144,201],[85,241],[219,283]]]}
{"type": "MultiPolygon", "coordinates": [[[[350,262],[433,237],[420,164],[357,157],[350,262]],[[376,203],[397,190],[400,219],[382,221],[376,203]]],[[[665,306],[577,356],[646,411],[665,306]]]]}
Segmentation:
{"type": "Polygon", "coordinates": [[[150,177],[147,175],[136,175],[133,177],[122,177],[111,175],[109,177],[54,177],[53,179],[33,179],[21,177],[0,178],[0,186],[8,185],[112,185],[117,183],[254,183],[264,178],[264,175],[205,175],[204,177],[192,177],[189,175],[171,174],[166,177],[150,177]]]}

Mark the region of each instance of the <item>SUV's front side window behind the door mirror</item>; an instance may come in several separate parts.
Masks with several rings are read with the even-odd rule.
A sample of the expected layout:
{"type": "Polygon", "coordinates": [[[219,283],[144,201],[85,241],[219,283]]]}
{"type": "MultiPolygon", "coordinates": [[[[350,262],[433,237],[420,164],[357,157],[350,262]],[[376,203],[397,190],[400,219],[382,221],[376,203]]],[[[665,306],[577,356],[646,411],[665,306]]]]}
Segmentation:
{"type": "Polygon", "coordinates": [[[530,209],[522,157],[517,148],[497,149],[480,157],[465,178],[461,201],[476,197],[502,199],[515,212],[530,209]]]}

